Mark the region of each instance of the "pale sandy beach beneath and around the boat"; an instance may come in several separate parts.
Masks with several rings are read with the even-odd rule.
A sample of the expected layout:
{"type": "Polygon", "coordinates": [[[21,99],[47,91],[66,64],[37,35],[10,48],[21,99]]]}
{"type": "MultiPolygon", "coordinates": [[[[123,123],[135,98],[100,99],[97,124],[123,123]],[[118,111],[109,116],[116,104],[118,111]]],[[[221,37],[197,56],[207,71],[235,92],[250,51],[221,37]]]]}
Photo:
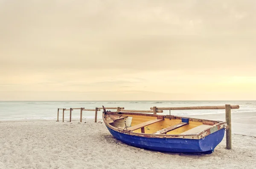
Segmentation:
{"type": "MultiPolygon", "coordinates": [[[[209,118],[201,115],[200,118],[209,118]]],[[[211,118],[220,118],[212,115],[211,118]]],[[[0,122],[1,169],[163,169],[256,168],[256,113],[233,114],[231,150],[223,141],[215,152],[204,154],[160,153],[117,141],[99,119],[72,121],[0,122]],[[243,126],[237,123],[240,116],[243,126]],[[248,130],[244,130],[247,126],[248,130]],[[240,133],[241,132],[241,133],[240,133]],[[244,135],[241,135],[244,134],[244,135]]]]}

